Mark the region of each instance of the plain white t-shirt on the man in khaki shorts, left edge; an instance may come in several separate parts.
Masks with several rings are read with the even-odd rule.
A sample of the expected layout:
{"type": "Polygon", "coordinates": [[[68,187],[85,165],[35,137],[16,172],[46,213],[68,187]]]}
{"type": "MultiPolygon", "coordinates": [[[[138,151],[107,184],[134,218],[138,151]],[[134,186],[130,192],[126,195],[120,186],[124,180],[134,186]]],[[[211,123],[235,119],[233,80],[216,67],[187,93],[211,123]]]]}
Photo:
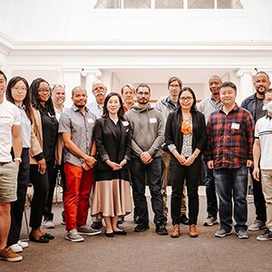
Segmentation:
{"type": "Polygon", "coordinates": [[[0,103],[0,162],[12,161],[12,128],[20,124],[21,114],[15,104],[8,101],[0,103]]]}

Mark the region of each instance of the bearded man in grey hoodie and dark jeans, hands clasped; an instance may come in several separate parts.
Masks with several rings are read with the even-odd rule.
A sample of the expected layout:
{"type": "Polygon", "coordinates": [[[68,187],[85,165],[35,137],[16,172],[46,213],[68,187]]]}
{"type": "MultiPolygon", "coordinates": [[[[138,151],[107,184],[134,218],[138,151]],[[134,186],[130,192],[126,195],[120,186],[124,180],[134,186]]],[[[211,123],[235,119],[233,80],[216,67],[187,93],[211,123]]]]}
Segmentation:
{"type": "Polygon", "coordinates": [[[135,232],[149,227],[149,214],[145,197],[145,177],[151,190],[152,209],[155,213],[154,223],[159,235],[167,235],[165,217],[163,216],[161,189],[160,146],[164,140],[164,121],[160,112],[150,105],[151,88],[140,84],[136,89],[137,105],[126,112],[131,122],[131,181],[138,225],[135,232]]]}

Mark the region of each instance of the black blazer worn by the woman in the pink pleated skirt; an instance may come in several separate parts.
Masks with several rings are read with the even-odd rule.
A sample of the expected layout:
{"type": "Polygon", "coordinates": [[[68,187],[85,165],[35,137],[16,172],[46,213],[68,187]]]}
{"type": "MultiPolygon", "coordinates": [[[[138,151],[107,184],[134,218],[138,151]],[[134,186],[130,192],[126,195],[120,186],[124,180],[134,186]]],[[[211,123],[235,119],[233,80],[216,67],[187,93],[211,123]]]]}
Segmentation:
{"type": "MultiPolygon", "coordinates": [[[[116,135],[109,117],[99,118],[95,122],[94,139],[96,142],[97,170],[112,170],[104,160],[112,160],[120,163],[121,160],[131,160],[131,125],[129,121],[120,120],[121,141],[119,148],[116,135]]],[[[127,164],[123,169],[127,168],[127,164]]]]}

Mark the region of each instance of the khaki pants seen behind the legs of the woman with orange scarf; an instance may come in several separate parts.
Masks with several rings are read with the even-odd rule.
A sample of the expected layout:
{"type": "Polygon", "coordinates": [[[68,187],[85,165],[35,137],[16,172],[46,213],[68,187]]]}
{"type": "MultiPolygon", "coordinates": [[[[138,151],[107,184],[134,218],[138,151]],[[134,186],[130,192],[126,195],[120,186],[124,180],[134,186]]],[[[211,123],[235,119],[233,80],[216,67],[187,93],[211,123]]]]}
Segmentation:
{"type": "MultiPolygon", "coordinates": [[[[163,214],[164,216],[167,217],[167,214],[168,214],[167,186],[168,186],[169,177],[170,177],[170,154],[168,152],[162,151],[161,163],[162,163],[161,189],[162,189],[162,198],[163,198],[163,214]]],[[[186,210],[187,210],[187,194],[186,194],[186,187],[184,185],[180,213],[181,214],[186,213],[186,210]]]]}

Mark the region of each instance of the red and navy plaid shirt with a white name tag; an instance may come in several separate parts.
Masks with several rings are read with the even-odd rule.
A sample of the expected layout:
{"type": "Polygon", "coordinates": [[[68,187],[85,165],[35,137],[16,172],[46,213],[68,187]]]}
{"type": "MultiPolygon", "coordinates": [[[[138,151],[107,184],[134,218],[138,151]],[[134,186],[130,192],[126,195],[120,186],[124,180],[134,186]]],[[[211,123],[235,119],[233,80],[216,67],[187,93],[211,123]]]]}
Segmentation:
{"type": "Polygon", "coordinates": [[[207,125],[208,143],[205,154],[213,160],[214,168],[235,169],[253,160],[254,121],[251,114],[238,107],[212,112],[207,125]]]}

